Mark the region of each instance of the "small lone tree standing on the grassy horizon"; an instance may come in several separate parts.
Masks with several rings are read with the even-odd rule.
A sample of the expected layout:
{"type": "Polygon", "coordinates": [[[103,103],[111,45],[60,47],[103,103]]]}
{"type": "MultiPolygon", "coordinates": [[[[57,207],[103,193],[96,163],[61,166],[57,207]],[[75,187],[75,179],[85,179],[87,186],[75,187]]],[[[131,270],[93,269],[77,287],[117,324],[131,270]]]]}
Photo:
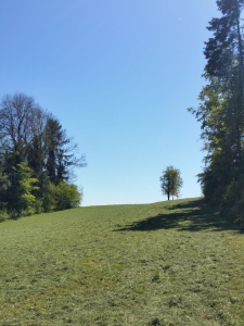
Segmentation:
{"type": "Polygon", "coordinates": [[[178,168],[169,165],[163,171],[163,175],[160,176],[160,188],[163,195],[167,195],[168,200],[170,196],[179,197],[183,181],[178,168]]]}

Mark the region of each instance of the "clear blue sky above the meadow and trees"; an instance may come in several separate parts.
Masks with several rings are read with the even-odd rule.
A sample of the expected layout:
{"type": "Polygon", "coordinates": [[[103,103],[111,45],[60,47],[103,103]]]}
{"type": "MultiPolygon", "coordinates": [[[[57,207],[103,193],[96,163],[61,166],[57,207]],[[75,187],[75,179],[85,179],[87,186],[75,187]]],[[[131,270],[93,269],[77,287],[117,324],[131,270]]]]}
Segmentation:
{"type": "Polygon", "coordinates": [[[187,109],[205,84],[214,0],[0,0],[0,99],[24,92],[56,116],[87,156],[82,205],[202,195],[201,125],[187,109]]]}

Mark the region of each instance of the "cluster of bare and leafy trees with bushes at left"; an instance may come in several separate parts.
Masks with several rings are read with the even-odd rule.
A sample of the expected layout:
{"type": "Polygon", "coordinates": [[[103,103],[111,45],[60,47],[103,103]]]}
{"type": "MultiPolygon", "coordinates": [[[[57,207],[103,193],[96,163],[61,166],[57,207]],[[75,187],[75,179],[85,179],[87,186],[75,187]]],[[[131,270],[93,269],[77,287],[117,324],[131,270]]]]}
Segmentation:
{"type": "Polygon", "coordinates": [[[79,205],[74,168],[86,165],[60,121],[24,93],[0,103],[0,215],[18,217],[79,205]]]}

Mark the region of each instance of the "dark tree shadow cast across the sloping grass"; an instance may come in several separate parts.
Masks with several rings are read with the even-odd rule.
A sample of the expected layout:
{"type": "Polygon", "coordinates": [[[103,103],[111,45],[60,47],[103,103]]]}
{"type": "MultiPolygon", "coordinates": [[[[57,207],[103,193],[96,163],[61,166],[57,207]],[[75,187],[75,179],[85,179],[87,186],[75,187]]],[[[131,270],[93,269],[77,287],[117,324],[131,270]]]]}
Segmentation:
{"type": "Polygon", "coordinates": [[[176,228],[178,230],[198,231],[208,229],[211,231],[237,228],[219,212],[209,208],[203,199],[194,200],[167,208],[168,212],[150,216],[126,225],[115,231],[153,231],[157,229],[176,228]]]}

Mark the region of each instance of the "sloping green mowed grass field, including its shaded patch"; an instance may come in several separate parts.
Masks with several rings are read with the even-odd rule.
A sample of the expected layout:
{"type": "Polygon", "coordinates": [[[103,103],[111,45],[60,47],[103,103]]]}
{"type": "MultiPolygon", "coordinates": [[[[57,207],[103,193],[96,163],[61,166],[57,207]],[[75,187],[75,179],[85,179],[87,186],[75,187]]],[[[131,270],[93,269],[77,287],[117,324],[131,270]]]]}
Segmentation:
{"type": "Polygon", "coordinates": [[[0,325],[244,325],[244,236],[201,199],[1,223],[0,325]]]}

